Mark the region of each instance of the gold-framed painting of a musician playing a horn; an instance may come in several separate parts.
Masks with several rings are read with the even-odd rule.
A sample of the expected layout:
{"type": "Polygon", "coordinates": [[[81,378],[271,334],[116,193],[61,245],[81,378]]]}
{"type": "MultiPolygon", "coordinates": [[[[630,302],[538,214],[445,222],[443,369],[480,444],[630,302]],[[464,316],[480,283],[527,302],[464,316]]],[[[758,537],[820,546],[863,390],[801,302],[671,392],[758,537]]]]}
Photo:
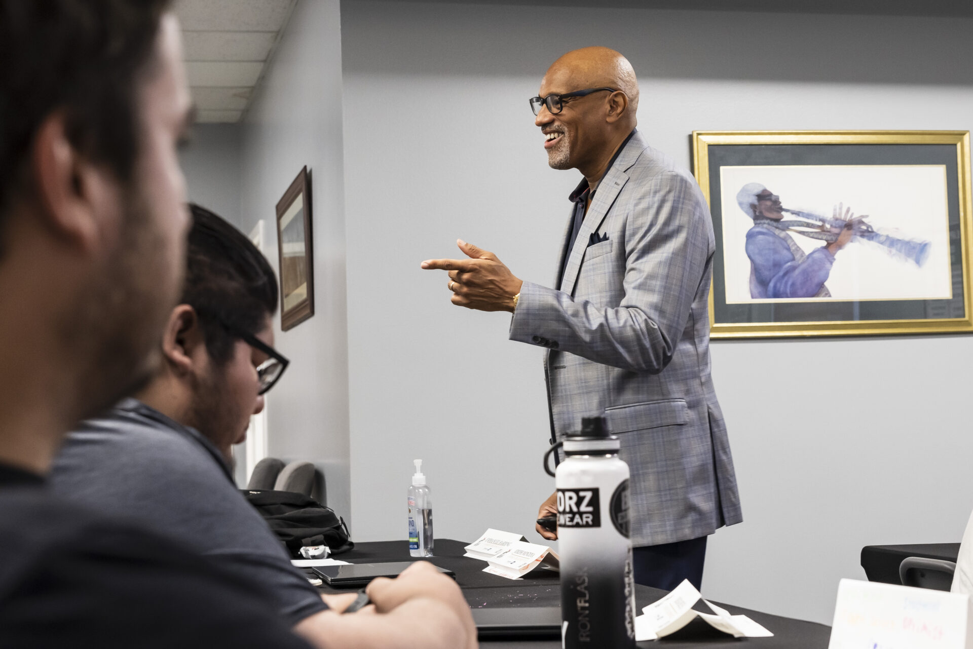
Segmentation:
{"type": "Polygon", "coordinates": [[[694,131],[712,338],[973,331],[969,131],[694,131]]]}

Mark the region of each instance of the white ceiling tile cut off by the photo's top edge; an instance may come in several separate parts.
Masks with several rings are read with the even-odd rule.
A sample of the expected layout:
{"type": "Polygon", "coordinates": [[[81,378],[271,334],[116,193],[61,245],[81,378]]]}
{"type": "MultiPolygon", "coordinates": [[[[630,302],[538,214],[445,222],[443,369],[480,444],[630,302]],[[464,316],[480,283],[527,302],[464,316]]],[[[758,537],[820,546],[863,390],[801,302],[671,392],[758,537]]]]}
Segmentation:
{"type": "Polygon", "coordinates": [[[182,28],[192,31],[279,31],[295,0],[178,0],[182,28]]]}

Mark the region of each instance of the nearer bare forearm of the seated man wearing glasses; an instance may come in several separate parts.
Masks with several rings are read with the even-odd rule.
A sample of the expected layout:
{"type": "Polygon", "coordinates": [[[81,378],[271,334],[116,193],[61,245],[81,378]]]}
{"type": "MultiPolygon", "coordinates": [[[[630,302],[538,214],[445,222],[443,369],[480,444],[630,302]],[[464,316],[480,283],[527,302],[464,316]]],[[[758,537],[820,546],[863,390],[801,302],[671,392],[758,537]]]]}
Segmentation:
{"type": "Polygon", "coordinates": [[[449,604],[415,598],[388,613],[364,610],[342,615],[321,611],[294,631],[318,649],[466,649],[471,645],[462,620],[449,604]]]}

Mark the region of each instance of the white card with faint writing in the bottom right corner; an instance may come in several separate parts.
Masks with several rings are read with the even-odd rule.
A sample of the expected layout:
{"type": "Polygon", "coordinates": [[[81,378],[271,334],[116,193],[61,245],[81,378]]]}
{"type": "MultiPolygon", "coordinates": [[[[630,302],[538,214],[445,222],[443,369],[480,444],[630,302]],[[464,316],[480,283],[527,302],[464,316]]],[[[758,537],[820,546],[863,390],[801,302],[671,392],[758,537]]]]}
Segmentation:
{"type": "Polygon", "coordinates": [[[843,579],[828,649],[973,649],[970,597],[843,579]]]}

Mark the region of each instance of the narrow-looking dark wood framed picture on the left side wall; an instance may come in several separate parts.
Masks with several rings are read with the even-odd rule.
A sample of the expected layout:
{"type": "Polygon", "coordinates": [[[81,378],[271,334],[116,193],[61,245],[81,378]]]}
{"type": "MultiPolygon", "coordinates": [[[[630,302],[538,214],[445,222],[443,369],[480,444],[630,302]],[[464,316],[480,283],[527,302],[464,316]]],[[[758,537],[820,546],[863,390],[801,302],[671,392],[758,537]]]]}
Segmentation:
{"type": "Polygon", "coordinates": [[[280,260],[280,328],[287,331],[314,314],[310,172],[305,166],[277,202],[280,260]]]}

